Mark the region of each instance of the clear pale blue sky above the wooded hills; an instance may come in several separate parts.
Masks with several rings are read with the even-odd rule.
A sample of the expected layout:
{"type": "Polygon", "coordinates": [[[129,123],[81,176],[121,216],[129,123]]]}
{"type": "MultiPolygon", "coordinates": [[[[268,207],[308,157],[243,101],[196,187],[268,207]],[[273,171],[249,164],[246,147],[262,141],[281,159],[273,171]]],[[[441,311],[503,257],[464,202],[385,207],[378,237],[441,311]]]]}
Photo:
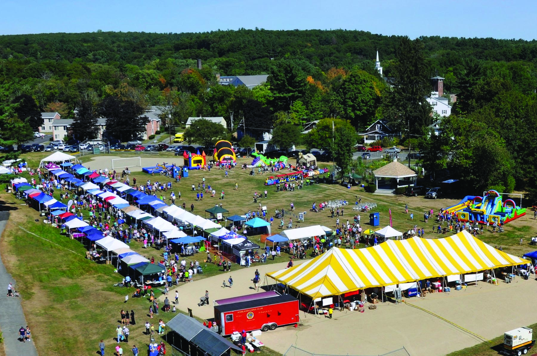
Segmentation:
{"type": "Polygon", "coordinates": [[[259,27],[532,40],[537,33],[537,2],[527,0],[3,0],[1,8],[0,34],[259,27]]]}

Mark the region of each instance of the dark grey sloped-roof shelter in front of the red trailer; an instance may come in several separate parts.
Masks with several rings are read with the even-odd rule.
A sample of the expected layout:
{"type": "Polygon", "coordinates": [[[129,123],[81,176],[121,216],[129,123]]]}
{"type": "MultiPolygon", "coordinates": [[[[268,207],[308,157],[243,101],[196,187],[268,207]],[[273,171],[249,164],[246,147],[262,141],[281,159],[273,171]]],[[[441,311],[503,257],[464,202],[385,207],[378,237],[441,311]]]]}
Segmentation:
{"type": "Polygon", "coordinates": [[[178,314],[166,325],[171,330],[166,335],[166,341],[186,356],[231,356],[235,352],[242,353],[241,348],[185,314],[178,314]]]}

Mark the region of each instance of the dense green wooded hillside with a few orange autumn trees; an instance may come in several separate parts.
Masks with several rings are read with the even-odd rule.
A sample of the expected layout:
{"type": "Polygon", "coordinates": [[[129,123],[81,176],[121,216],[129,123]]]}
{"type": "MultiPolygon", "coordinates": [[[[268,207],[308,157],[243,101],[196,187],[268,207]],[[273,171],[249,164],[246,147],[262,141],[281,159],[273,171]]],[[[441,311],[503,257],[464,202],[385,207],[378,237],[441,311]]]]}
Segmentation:
{"type": "Polygon", "coordinates": [[[449,170],[472,189],[533,194],[536,64],[536,41],[411,41],[344,30],[0,36],[0,144],[31,135],[39,111],[75,118],[84,137],[97,116],[112,127],[149,105],[164,109],[165,125],[224,116],[229,130],[242,122],[254,134],[325,117],[349,120],[360,132],[382,118],[396,132],[410,129],[428,172],[449,170]],[[391,86],[374,69],[377,50],[391,86]],[[218,85],[217,73],[270,76],[249,90],[218,85]],[[458,100],[441,134],[431,136],[427,126],[439,117],[424,98],[437,74],[458,100]]]}

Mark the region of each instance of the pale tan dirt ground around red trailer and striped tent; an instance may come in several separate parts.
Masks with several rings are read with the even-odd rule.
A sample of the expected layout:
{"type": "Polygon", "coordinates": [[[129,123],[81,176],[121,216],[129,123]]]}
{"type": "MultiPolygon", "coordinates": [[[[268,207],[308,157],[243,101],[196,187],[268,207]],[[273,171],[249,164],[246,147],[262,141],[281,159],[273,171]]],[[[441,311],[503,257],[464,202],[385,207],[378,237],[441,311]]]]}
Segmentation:
{"type": "MultiPolygon", "coordinates": [[[[286,263],[260,266],[263,276],[269,271],[285,268],[286,263]]],[[[256,266],[257,267],[257,266],[256,266]]],[[[179,309],[193,309],[201,318],[213,317],[213,300],[255,293],[255,268],[231,272],[179,286],[179,309]],[[233,276],[233,288],[223,288],[222,281],[233,276]],[[200,296],[209,291],[211,306],[198,307],[200,296]]],[[[272,280],[269,279],[269,283],[272,280]]],[[[262,291],[262,290],[260,290],[262,291]]],[[[513,283],[500,281],[498,286],[479,282],[466,290],[429,294],[424,299],[410,298],[412,305],[459,325],[477,335],[491,339],[504,331],[535,322],[533,298],[537,281],[517,277],[513,283]]],[[[175,289],[170,291],[173,301],[175,289]]],[[[164,297],[161,297],[164,299],[164,297]]],[[[481,343],[478,337],[441,320],[441,318],[413,308],[405,303],[380,303],[376,310],[334,311],[333,319],[300,313],[301,327],[282,327],[264,332],[260,339],[274,350],[285,353],[296,345],[315,353],[371,355],[396,350],[402,346],[411,355],[445,355],[481,343]]]]}

